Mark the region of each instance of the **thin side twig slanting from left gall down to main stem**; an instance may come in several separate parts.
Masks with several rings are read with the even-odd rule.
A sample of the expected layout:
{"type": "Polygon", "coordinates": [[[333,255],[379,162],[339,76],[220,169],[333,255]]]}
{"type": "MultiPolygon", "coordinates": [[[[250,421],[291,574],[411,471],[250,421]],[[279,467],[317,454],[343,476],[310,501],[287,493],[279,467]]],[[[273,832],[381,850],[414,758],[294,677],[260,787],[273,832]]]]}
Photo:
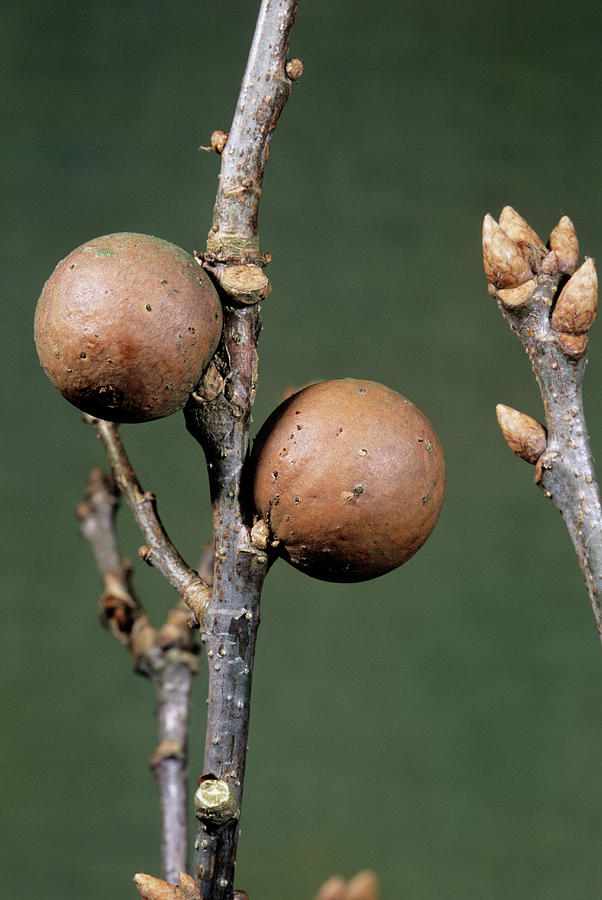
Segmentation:
{"type": "Polygon", "coordinates": [[[84,416],[96,429],[111,464],[113,477],[126,499],[147,546],[140,548],[140,556],[154,566],[188,604],[198,621],[211,589],[199,574],[184,562],[169,540],[157,514],[154,494],[144,492],[128,459],[117,426],[104,419],[84,416]]]}

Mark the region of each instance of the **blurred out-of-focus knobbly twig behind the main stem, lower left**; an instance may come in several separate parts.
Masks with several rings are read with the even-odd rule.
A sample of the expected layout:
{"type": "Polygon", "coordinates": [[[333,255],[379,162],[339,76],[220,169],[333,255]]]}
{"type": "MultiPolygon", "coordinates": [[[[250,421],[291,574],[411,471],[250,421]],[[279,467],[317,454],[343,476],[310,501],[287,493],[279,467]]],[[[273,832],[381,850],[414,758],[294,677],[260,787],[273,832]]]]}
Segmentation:
{"type": "Polygon", "coordinates": [[[77,508],[79,529],[92,548],[104,593],[101,619],[132,652],[136,671],[155,688],[159,745],[150,761],[162,812],[163,873],[176,881],[187,867],[187,743],[197,647],[188,608],[178,604],[156,630],[135,596],[131,567],[120,557],[115,533],[119,492],[110,476],[90,473],[86,500],[77,508]]]}

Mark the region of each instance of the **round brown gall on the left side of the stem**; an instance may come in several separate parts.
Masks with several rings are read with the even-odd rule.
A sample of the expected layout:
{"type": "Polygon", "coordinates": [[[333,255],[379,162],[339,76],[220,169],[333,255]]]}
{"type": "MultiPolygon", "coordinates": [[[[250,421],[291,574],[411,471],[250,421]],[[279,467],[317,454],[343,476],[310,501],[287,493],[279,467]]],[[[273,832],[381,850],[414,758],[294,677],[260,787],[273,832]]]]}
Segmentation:
{"type": "Polygon", "coordinates": [[[221,330],[217,292],[193,257],[131,233],[95,238],[61,260],[34,324],[55,387],[79,409],[113,422],[182,409],[221,330]]]}

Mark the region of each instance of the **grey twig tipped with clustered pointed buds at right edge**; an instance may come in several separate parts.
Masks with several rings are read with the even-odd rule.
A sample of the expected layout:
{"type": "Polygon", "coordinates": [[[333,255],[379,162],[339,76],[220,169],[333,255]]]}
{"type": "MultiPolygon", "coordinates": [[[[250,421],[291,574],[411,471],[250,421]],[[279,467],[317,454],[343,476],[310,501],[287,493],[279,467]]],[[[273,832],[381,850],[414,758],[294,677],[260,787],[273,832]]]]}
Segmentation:
{"type": "Polygon", "coordinates": [[[498,419],[511,448],[536,463],[535,481],[565,521],[602,640],[602,506],[582,399],[587,332],[597,309],[593,260],[577,269],[568,218],[546,246],[511,207],[499,226],[486,217],[483,255],[490,292],[531,361],[546,430],[504,406],[498,419]]]}

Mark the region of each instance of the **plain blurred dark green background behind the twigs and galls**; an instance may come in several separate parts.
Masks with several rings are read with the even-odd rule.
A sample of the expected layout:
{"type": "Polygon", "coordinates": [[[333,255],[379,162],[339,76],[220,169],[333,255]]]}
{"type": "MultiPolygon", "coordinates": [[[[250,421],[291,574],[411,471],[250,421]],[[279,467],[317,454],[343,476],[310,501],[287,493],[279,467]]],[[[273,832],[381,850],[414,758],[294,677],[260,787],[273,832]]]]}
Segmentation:
{"type": "MultiPolygon", "coordinates": [[[[159,873],[148,683],[96,621],[73,509],[100,446],[38,366],[37,296],[73,247],[143,231],[202,247],[257,2],[21,0],[1,13],[2,896],[135,897],[159,873]]],[[[310,900],[373,868],[384,898],[589,900],[602,890],[602,671],[582,578],[494,405],[541,416],[482,275],[482,216],[561,215],[602,247],[602,4],[301,0],[305,75],[272,143],[260,425],[290,385],[401,391],[446,450],[423,550],[373,583],[266,583],[237,872],[251,900],[310,900]]],[[[586,402],[602,446],[602,350],[586,402]]],[[[204,461],[180,416],[127,426],[190,561],[204,461]]],[[[122,512],[123,552],[141,539],[122,512]]],[[[158,621],[174,595],[136,585],[158,621]]],[[[205,671],[195,689],[200,772],[205,671]]]]}

